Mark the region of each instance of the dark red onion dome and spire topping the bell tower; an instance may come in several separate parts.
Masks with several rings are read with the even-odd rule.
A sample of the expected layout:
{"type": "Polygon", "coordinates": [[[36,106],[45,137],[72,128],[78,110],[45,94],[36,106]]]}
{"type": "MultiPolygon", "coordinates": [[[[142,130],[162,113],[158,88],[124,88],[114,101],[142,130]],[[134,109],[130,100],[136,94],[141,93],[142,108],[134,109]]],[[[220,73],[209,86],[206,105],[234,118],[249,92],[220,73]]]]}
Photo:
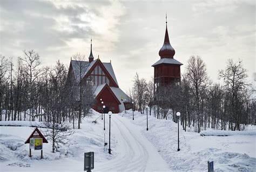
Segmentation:
{"type": "Polygon", "coordinates": [[[164,37],[164,45],[161,47],[159,51],[159,56],[161,58],[173,58],[175,54],[175,50],[170,44],[168,30],[167,30],[167,14],[166,14],[166,29],[165,29],[165,37],[164,37]]]}

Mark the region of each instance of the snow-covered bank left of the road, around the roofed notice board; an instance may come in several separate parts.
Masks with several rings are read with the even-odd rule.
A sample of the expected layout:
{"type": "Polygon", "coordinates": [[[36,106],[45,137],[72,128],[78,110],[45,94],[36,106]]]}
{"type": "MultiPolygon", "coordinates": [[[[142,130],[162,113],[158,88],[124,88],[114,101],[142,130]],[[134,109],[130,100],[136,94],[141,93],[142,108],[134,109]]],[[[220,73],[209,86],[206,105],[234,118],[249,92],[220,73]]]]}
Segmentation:
{"type": "MultiPolygon", "coordinates": [[[[97,162],[106,162],[115,157],[116,152],[113,151],[110,155],[104,147],[101,114],[94,111],[92,116],[84,118],[82,122],[82,129],[76,129],[75,134],[70,137],[68,146],[60,148],[59,152],[51,153],[51,143],[44,143],[43,160],[40,159],[41,152],[36,150],[32,150],[30,158],[29,144],[24,144],[33,132],[33,127],[0,126],[0,171],[83,171],[85,152],[95,152],[97,162]],[[92,123],[96,119],[97,123],[92,123]]],[[[21,122],[18,123],[21,125],[21,122]]],[[[28,125],[27,122],[23,124],[28,125]]],[[[39,129],[44,131],[44,128],[39,129]]],[[[107,131],[106,126],[106,137],[107,131]]],[[[111,148],[114,149],[114,135],[111,142],[111,148]]]]}

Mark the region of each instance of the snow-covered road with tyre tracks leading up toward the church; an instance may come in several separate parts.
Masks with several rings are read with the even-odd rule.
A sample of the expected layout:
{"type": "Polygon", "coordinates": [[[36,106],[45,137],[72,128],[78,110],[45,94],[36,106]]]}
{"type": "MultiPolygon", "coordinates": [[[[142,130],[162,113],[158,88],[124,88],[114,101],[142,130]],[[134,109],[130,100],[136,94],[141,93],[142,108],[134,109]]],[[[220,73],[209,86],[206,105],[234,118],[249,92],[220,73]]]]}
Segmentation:
{"type": "Polygon", "coordinates": [[[118,114],[112,115],[111,122],[111,133],[117,140],[117,150],[114,150],[117,156],[96,162],[95,171],[170,171],[157,149],[141,134],[142,127],[118,114]]]}

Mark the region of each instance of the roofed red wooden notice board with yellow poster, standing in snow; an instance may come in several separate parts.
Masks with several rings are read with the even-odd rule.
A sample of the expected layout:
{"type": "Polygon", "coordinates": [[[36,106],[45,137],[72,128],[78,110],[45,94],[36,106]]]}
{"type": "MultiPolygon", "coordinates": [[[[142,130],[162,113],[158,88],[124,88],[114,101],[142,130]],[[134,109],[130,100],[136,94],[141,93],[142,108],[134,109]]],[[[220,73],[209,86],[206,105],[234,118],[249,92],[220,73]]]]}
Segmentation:
{"type": "Polygon", "coordinates": [[[29,139],[25,141],[25,144],[29,143],[29,157],[31,157],[31,149],[41,150],[41,159],[43,159],[43,143],[48,143],[43,134],[38,128],[29,136],[29,139]]]}

